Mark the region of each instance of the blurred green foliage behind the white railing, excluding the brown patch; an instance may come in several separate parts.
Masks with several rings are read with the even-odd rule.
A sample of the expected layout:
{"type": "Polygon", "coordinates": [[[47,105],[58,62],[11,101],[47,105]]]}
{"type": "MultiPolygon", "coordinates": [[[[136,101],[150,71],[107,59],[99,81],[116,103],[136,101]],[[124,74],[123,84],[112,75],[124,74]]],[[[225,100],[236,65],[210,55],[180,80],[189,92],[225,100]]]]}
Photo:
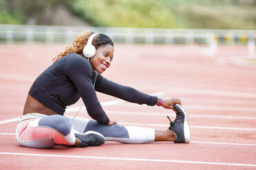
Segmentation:
{"type": "Polygon", "coordinates": [[[99,27],[256,29],[253,0],[0,0],[0,23],[28,23],[60,3],[99,27]]]}

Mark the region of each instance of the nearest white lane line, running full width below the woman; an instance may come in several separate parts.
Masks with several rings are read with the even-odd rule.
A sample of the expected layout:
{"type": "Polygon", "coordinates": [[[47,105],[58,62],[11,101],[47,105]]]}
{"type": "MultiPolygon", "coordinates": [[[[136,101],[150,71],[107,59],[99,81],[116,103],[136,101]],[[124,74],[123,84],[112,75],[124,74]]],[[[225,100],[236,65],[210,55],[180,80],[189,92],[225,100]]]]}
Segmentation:
{"type": "Polygon", "coordinates": [[[190,160],[164,160],[164,159],[145,159],[145,158],[116,158],[103,156],[76,156],[76,155],[56,155],[56,154],[24,154],[15,152],[0,152],[3,155],[19,155],[19,156],[43,156],[43,157],[57,157],[57,158],[84,158],[96,160],[125,160],[125,161],[140,161],[140,162],[172,162],[172,163],[187,163],[187,164],[202,164],[202,165],[227,165],[236,167],[256,167],[253,164],[240,164],[228,162],[203,162],[190,160]]]}

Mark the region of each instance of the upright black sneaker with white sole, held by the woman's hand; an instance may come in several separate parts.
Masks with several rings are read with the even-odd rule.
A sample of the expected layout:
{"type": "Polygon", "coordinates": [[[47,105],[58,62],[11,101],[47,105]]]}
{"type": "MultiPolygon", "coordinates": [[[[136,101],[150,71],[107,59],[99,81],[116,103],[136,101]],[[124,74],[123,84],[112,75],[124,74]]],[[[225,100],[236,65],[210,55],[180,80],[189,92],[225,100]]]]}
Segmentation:
{"type": "Polygon", "coordinates": [[[175,121],[170,122],[169,130],[173,131],[173,134],[176,137],[174,143],[189,143],[190,141],[190,131],[189,131],[189,123],[188,123],[188,114],[186,114],[185,110],[179,104],[174,104],[174,109],[176,112],[175,121]]]}

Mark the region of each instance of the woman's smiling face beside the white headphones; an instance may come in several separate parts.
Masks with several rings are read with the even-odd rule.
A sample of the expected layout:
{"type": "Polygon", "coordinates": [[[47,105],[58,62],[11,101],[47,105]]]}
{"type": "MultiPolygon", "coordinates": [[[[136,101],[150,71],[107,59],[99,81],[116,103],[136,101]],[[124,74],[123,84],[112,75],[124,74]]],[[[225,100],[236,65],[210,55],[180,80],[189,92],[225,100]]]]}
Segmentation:
{"type": "Polygon", "coordinates": [[[98,73],[103,73],[109,68],[111,60],[113,60],[114,47],[110,44],[100,45],[96,49],[95,55],[89,59],[92,65],[93,71],[98,71],[98,73]]]}

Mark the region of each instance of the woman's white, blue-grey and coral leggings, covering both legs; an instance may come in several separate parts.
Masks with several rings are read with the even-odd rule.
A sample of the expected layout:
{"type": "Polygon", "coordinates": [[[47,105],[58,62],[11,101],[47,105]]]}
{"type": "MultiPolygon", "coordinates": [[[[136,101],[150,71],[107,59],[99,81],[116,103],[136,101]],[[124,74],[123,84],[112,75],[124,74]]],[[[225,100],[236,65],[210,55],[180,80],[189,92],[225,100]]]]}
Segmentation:
{"type": "Polygon", "coordinates": [[[74,145],[75,133],[94,131],[103,134],[105,141],[120,143],[151,143],[155,130],[146,127],[103,125],[91,119],[65,117],[60,114],[25,114],[17,125],[16,137],[21,146],[51,148],[54,145],[74,145]]]}

